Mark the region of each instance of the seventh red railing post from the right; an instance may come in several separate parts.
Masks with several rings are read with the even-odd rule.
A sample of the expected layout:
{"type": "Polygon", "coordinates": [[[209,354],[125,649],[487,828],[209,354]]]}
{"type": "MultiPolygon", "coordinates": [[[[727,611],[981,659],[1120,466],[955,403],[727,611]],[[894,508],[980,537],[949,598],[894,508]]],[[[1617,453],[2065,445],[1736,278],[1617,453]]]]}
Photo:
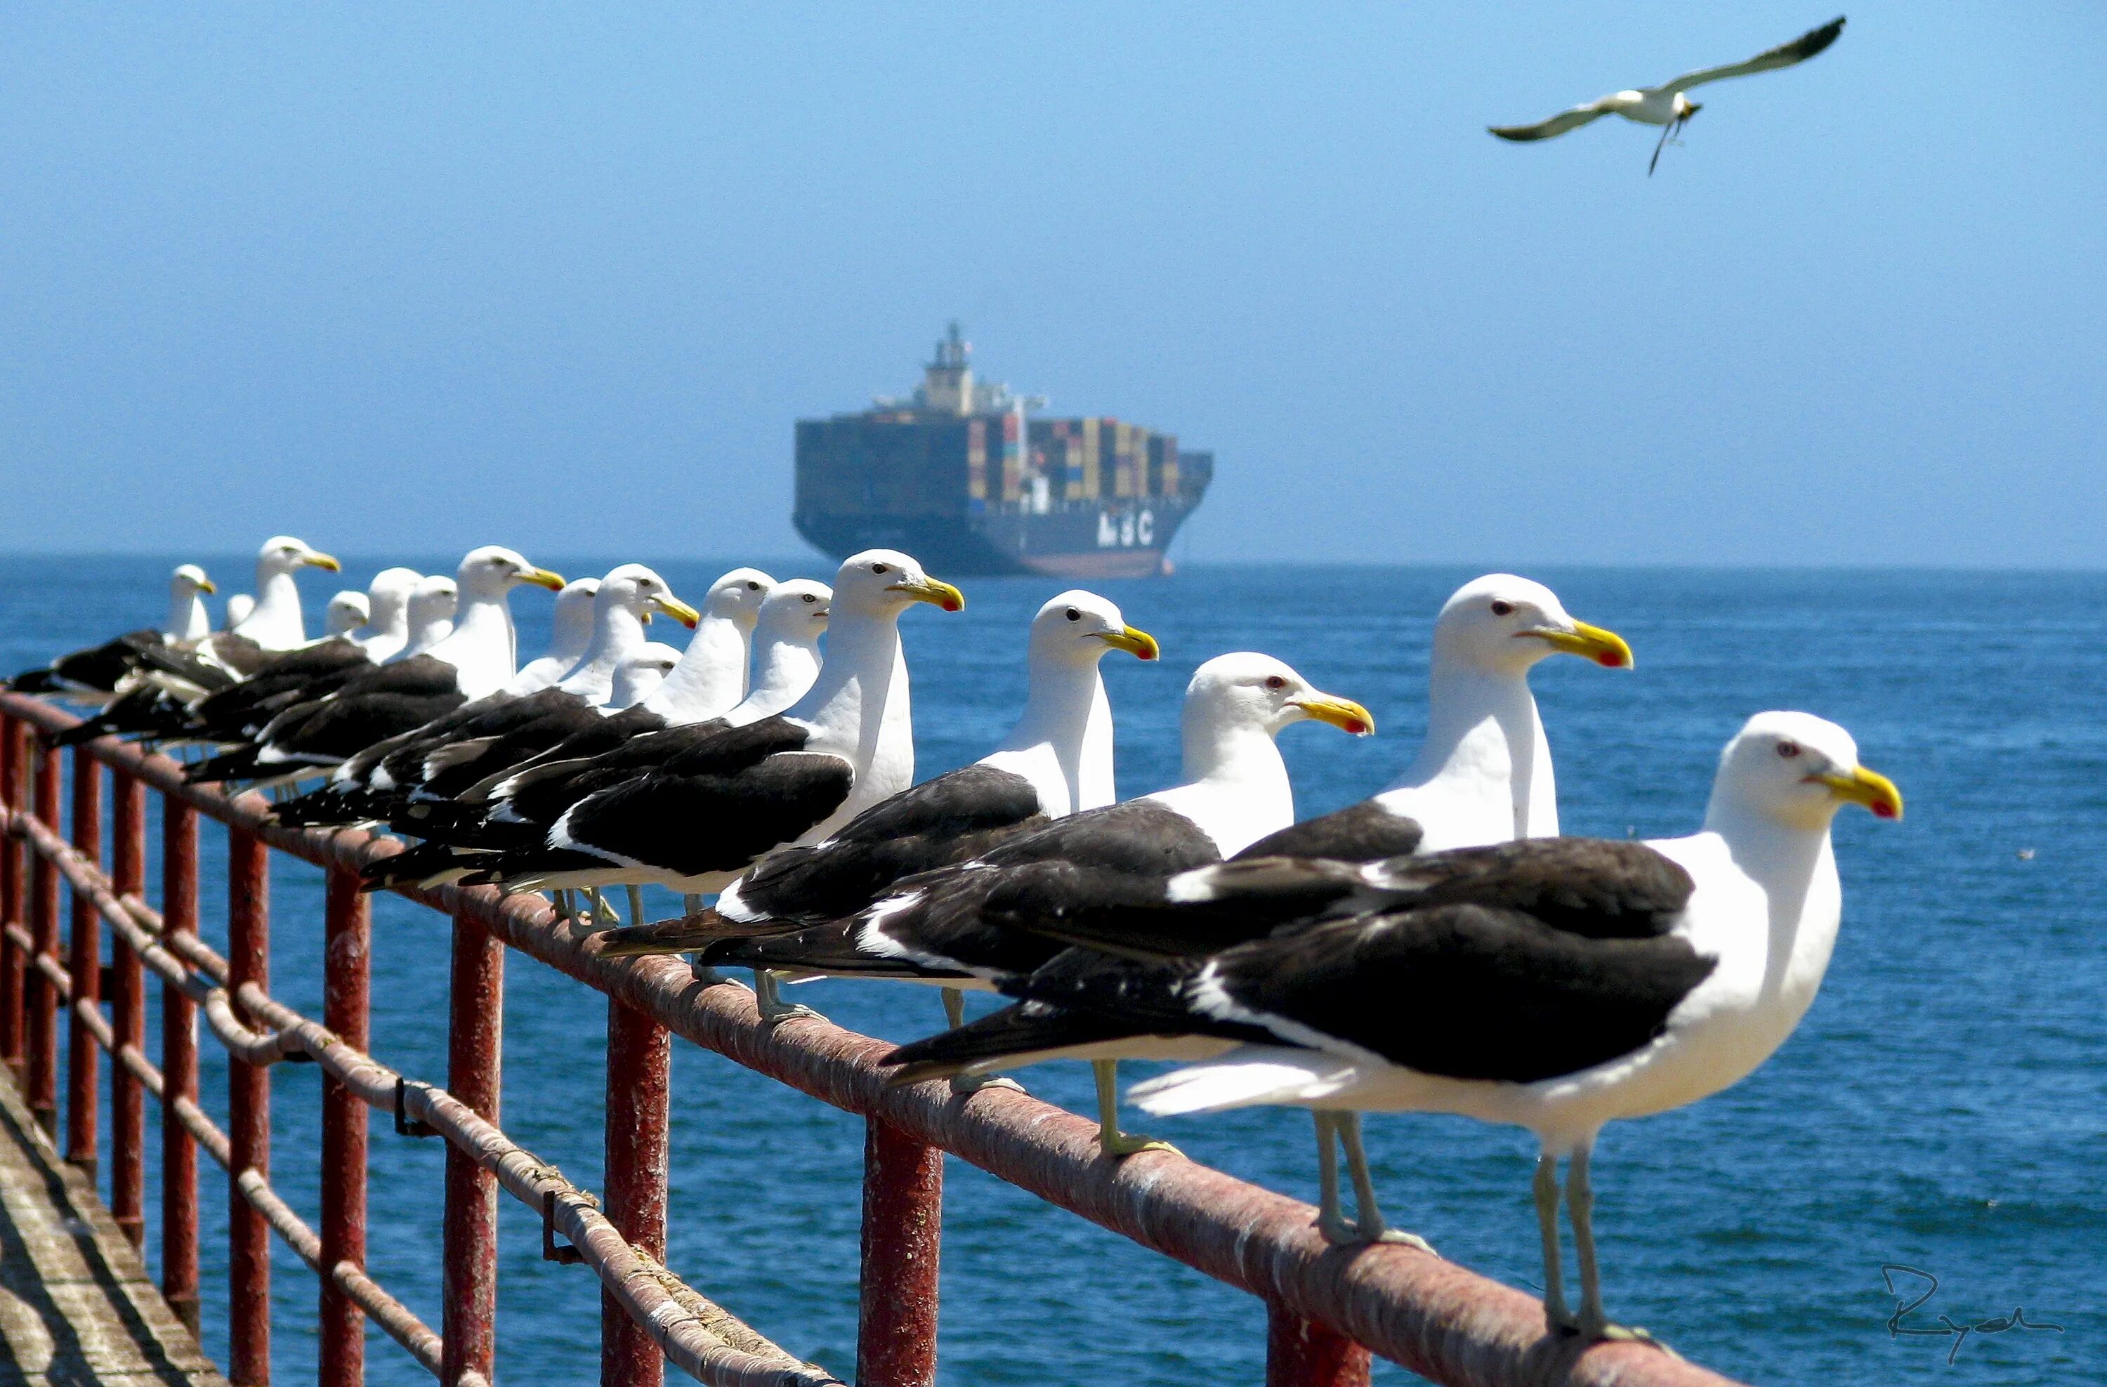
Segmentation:
{"type": "MultiPolygon", "coordinates": [[[[198,812],[160,799],[160,921],[164,938],[198,932],[198,812]]],[[[198,1147],[177,1100],[198,1100],[196,1005],[160,989],[160,1294],[198,1332],[198,1147]]]]}

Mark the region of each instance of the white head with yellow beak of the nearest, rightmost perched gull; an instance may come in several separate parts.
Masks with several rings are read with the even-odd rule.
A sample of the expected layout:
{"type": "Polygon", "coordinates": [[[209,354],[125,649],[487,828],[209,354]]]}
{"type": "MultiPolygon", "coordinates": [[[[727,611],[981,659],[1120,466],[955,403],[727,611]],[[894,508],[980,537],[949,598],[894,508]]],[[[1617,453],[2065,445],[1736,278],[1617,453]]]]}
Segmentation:
{"type": "Polygon", "coordinates": [[[1848,731],[1812,712],[1757,712],[1719,753],[1705,818],[1753,812],[1787,828],[1823,831],[1848,803],[1903,818],[1903,793],[1858,765],[1848,731]]]}

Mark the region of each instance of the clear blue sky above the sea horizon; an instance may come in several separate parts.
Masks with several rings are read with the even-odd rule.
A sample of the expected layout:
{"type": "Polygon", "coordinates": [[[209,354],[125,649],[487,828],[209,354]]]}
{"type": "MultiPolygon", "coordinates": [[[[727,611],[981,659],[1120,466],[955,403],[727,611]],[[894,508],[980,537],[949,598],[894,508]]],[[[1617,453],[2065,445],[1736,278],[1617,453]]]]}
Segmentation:
{"type": "Polygon", "coordinates": [[[959,316],[1203,561],[2096,565],[2096,4],[1483,131],[1831,4],[11,4],[0,546],[792,552],[959,316]]]}

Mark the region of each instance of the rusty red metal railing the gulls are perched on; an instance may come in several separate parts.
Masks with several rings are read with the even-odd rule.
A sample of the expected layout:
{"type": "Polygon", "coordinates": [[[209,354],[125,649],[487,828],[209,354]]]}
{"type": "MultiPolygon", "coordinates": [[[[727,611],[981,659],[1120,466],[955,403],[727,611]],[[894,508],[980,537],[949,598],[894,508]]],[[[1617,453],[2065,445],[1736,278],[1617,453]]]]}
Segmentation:
{"type": "Polygon", "coordinates": [[[668,1054],[678,1035],[866,1121],[858,1368],[862,1387],[936,1381],[942,1155],[950,1153],[1049,1204],[1264,1301],[1271,1387],[1367,1383],[1370,1353],[1437,1383],[1719,1387],[1726,1379],[1652,1347],[1547,1336],[1542,1305],[1410,1248],[1334,1248],[1311,1208],[1176,1153],[1100,1157],[1096,1124],[1003,1088],[954,1098],[944,1083],[887,1090],[887,1043],[826,1020],[761,1022],[742,986],[704,986],[672,959],[605,959],[588,934],[535,896],[489,887],[402,890],[453,917],[447,1086],[367,1054],[369,911],[358,866],[394,852],[358,831],[314,833],[270,820],[259,795],[183,782],[181,765],[99,740],[74,750],[72,841],[61,763],[36,734],[74,725],[63,710],[0,694],[0,1058],[53,1130],[59,1016],[67,1020],[65,1157],[91,1174],[99,1056],[112,1056],[110,1208],[145,1235],[143,1100],[162,1105],[162,1292],[196,1328],[196,1151],[230,1176],[230,1379],[270,1381],[270,1237],[320,1279],[316,1381],[365,1374],[373,1320],[449,1385],[487,1385],[495,1360],[497,1195],[544,1216],[550,1261],[577,1261],[600,1284],[600,1381],[657,1385],[672,1362],[721,1387],[822,1387],[799,1362],[664,1267],[668,1054]],[[99,860],[103,769],[112,774],[112,862],[99,860]],[[145,790],[162,795],[160,909],[145,898],[145,790]],[[198,816],[228,826],[228,955],[198,938],[198,816]],[[324,1003],[310,1020],[270,997],[270,852],[327,873],[324,1003]],[[59,894],[72,890],[61,953],[59,894]],[[101,968],[110,927],[112,965],[101,968]],[[607,1187],[575,1187],[499,1128],[504,955],[525,953],[607,995],[607,1187]],[[145,1054],[145,976],[162,984],[162,1046],[145,1054]],[[107,1014],[103,1003],[107,1001],[107,1014]],[[228,1050],[228,1126],[198,1107],[194,1016],[228,1050]],[[270,1185],[272,1067],[312,1060],[322,1083],[322,1210],[308,1227],[270,1185]],[[442,1322],[438,1330],[365,1271],[365,1109],[396,1130],[447,1142],[442,1322]],[[556,1242],[567,1239],[569,1246],[556,1242]]]}

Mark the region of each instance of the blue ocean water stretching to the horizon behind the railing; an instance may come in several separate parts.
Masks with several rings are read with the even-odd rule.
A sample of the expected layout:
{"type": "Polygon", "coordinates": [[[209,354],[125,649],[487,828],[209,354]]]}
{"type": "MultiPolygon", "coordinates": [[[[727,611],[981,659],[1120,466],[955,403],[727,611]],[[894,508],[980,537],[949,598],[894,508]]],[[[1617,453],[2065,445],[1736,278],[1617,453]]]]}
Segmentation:
{"type": "MultiPolygon", "coordinates": [[[[327,540],[327,538],[324,538],[327,540]]],[[[535,554],[565,571],[605,563],[535,554]]],[[[0,668],[147,624],[162,559],[0,561],[0,668]]],[[[700,590],[723,563],[666,563],[700,590]]],[[[247,563],[211,565],[225,590],[247,563]]],[[[365,580],[377,565],[350,563],[365,580]]],[[[440,567],[436,559],[428,567],[440,567]]],[[[822,573],[818,561],[767,565],[822,573]]],[[[1104,584],[1163,662],[1106,658],[1123,795],[1178,769],[1178,694],[1201,660],[1275,653],[1365,702],[1380,734],[1281,738],[1298,809],[1380,788],[1422,725],[1426,632],[1462,569],[1195,567],[1104,584]]],[[[1551,569],[1568,607],[1622,632],[1637,670],[1551,660],[1534,679],[1568,833],[1696,826],[1713,761],[1761,708],[1806,708],[1858,738],[1909,799],[1901,824],[1837,820],[1846,917],[1814,1010],[1738,1088],[1612,1126],[1597,1149],[1597,1233],[1614,1317],[1755,1383],[2107,1381],[2107,575],[1945,571],[1551,569]],[[1894,1336],[1896,1294],[1915,1301],[1894,1336]],[[2023,1307],[2059,1330],[1974,1332],[2023,1307]],[[1953,1362],[1949,1364],[1949,1355],[1953,1362]]],[[[329,575],[310,584],[310,613],[329,575]]],[[[1045,580],[969,580],[959,616],[904,622],[923,776],[982,755],[1022,700],[1022,632],[1045,580]]],[[[548,599],[514,599],[523,651],[548,599]]],[[[674,628],[672,634],[681,634],[674,628]]],[[[206,831],[206,934],[223,932],[221,835],[206,831]]],[[[320,1014],[320,881],[274,862],[274,993],[320,1014]]],[[[445,1079],[447,927],[383,898],[375,911],[373,1050],[445,1079]]],[[[600,1185],[607,1003],[512,955],[504,1126],[586,1187],[600,1185]]],[[[940,1027],[925,989],[815,982],[796,997],[843,1024],[908,1039],[940,1027]]],[[[986,1003],[984,1003],[986,1005],[986,1003]]],[[[150,1035],[158,1035],[152,1029],[150,1035]]],[[[1134,1067],[1136,1073],[1142,1067],[1134,1067]]],[[[1032,1092],[1087,1111],[1087,1069],[1041,1067],[1032,1092]]],[[[204,1102],[223,1064],[204,1046],[204,1102]]],[[[274,1079],[274,1183],[312,1220],[316,1079],[274,1079]]],[[[1315,1197],[1308,1119],[1292,1111],[1165,1119],[1195,1159],[1315,1197]]],[[[107,1124],[105,1124],[107,1132],[107,1124]]],[[[1443,1254],[1538,1286],[1528,1134],[1464,1119],[1370,1117],[1384,1208],[1443,1254]]],[[[670,1263],[788,1349],[847,1374],[855,1349],[862,1126],[731,1062],[676,1046],[670,1263]]],[[[959,1161],[948,1164],[946,1385],[1256,1383],[1260,1305],[959,1161]]],[[[225,1360],[225,1180],[204,1174],[206,1349],[225,1360]]],[[[156,1195],[158,1197],[158,1195],[156,1195]]],[[[154,1208],[150,1204],[150,1208],[154,1208]]],[[[373,1126],[371,1271],[438,1324],[440,1149],[373,1126]]],[[[539,1258],[537,1218],[501,1204],[499,1379],[594,1381],[598,1294],[539,1258]]],[[[158,1265],[150,1216],[150,1263],[158,1265]]],[[[314,1277],[276,1250],[280,1381],[314,1364],[314,1277]]],[[[428,1381],[369,1341],[369,1381],[428,1381]]],[[[1378,1381],[1416,1381],[1378,1364],[1378,1381]]]]}

